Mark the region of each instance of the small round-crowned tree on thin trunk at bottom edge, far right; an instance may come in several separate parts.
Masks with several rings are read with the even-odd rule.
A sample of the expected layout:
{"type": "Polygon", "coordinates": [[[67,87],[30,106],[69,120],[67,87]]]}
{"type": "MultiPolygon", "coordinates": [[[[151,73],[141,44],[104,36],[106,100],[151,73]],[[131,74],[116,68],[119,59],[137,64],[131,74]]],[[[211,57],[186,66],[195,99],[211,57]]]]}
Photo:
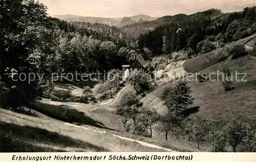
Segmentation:
{"type": "Polygon", "coordinates": [[[233,148],[233,152],[245,140],[247,129],[247,125],[241,121],[232,121],[225,127],[227,143],[233,148]]]}

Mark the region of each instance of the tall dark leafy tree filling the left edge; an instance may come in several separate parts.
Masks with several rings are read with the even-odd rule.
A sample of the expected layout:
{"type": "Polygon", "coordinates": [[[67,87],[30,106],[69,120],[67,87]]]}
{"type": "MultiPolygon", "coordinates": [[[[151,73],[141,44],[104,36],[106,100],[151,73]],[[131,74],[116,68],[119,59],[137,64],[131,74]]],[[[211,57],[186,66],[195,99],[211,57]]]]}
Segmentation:
{"type": "Polygon", "coordinates": [[[30,106],[36,97],[38,79],[29,82],[28,75],[36,73],[35,53],[47,29],[47,7],[38,1],[0,2],[0,82],[3,107],[14,109],[30,106]],[[15,16],[14,16],[15,15],[15,16]],[[12,80],[12,73],[25,74],[24,81],[12,80]]]}

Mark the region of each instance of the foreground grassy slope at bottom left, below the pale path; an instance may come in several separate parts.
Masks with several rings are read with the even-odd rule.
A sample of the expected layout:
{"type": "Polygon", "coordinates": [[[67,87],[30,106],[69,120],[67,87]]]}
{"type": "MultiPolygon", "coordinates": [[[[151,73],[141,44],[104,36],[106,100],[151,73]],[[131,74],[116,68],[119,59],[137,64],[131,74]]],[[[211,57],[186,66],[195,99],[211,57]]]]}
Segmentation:
{"type": "Polygon", "coordinates": [[[0,152],[160,151],[59,121],[1,108],[0,115],[0,152]]]}

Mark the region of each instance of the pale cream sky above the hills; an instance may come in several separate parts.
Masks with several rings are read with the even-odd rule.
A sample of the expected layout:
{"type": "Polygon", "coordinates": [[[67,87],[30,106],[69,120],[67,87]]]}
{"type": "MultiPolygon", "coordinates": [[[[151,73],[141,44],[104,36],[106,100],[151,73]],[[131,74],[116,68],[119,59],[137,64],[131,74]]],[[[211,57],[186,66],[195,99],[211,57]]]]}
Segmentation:
{"type": "Polygon", "coordinates": [[[49,15],[80,15],[92,17],[124,17],[145,14],[161,17],[193,14],[211,8],[223,12],[242,11],[256,6],[256,0],[39,0],[48,7],[49,15]]]}

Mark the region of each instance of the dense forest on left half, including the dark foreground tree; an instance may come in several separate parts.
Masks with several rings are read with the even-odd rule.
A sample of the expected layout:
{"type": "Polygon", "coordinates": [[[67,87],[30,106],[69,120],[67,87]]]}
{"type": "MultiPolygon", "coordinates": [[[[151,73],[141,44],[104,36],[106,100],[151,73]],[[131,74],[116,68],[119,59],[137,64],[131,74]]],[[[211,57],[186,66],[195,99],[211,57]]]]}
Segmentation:
{"type": "MultiPolygon", "coordinates": [[[[117,27],[52,18],[38,1],[1,1],[0,11],[3,107],[26,106],[37,95],[38,76],[13,81],[14,73],[46,78],[52,73],[103,72],[138,55],[135,42],[117,27]]],[[[148,49],[140,52],[150,55],[148,49]]]]}

